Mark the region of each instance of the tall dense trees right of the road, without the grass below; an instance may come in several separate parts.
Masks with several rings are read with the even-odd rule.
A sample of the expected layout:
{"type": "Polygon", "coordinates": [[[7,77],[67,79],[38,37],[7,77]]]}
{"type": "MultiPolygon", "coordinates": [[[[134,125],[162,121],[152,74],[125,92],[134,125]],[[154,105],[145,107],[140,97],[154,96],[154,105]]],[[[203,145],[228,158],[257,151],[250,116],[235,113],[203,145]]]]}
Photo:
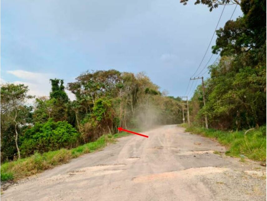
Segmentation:
{"type": "Polygon", "coordinates": [[[240,6],[244,15],[217,30],[212,51],[221,58],[209,67],[206,106],[200,86],[191,101],[192,118],[201,125],[204,114],[212,128],[266,125],[266,1],[242,0],[240,6]]]}

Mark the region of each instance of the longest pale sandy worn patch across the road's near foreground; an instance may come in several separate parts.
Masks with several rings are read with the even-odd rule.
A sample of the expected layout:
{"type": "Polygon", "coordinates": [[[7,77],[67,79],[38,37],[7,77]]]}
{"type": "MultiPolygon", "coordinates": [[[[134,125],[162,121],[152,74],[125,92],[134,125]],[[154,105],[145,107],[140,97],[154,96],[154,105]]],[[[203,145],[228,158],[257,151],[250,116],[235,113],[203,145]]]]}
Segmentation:
{"type": "Polygon", "coordinates": [[[177,179],[178,178],[190,178],[198,175],[205,175],[210,173],[222,173],[229,170],[229,168],[217,168],[217,167],[201,167],[201,168],[189,168],[180,171],[164,172],[159,174],[150,174],[140,177],[132,178],[134,182],[147,182],[164,179],[177,179]]]}

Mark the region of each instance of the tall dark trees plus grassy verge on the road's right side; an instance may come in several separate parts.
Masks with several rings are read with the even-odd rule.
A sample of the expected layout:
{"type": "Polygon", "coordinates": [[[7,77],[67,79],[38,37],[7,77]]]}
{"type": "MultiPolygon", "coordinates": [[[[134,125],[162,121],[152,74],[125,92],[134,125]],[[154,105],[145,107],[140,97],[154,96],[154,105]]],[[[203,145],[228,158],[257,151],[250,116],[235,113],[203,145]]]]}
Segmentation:
{"type": "Polygon", "coordinates": [[[217,139],[229,156],[266,164],[266,0],[196,0],[197,4],[211,12],[222,4],[236,4],[243,15],[216,30],[212,53],[218,56],[213,55],[217,58],[207,70],[195,72],[196,77],[205,77],[203,70],[210,74],[204,81],[205,106],[200,84],[189,101],[192,125],[181,125],[188,132],[217,139]],[[205,116],[209,129],[203,128],[205,116]]]}

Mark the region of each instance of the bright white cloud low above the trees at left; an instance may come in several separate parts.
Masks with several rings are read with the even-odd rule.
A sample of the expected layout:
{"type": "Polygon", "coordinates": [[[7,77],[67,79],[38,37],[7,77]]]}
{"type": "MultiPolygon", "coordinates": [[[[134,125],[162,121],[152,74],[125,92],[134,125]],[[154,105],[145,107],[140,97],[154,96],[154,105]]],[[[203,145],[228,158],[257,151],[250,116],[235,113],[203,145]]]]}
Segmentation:
{"type": "MultiPolygon", "coordinates": [[[[7,73],[12,74],[17,78],[20,78],[21,79],[20,81],[14,81],[13,83],[15,84],[20,83],[28,86],[29,87],[28,94],[36,97],[49,96],[51,90],[50,78],[55,77],[54,75],[49,73],[34,73],[25,70],[12,70],[12,71],[7,71],[7,73]]],[[[71,100],[75,99],[74,94],[72,94],[70,91],[66,90],[66,93],[68,94],[71,100]]]]}

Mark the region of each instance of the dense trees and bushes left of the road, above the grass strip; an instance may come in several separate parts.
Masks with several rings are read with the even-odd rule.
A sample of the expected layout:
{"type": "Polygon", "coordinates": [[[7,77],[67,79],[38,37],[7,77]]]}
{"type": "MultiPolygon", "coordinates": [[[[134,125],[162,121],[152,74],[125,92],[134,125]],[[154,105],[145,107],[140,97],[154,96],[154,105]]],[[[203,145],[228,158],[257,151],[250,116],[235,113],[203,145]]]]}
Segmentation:
{"type": "Polygon", "coordinates": [[[50,97],[36,98],[34,107],[27,106],[26,100],[31,98],[26,95],[27,86],[1,86],[2,162],[16,159],[20,152],[26,157],[73,148],[105,133],[117,133],[118,127],[149,128],[182,122],[180,99],[165,96],[143,73],[83,73],[68,83],[76,97],[73,101],[63,80],[50,82],[50,97]]]}

